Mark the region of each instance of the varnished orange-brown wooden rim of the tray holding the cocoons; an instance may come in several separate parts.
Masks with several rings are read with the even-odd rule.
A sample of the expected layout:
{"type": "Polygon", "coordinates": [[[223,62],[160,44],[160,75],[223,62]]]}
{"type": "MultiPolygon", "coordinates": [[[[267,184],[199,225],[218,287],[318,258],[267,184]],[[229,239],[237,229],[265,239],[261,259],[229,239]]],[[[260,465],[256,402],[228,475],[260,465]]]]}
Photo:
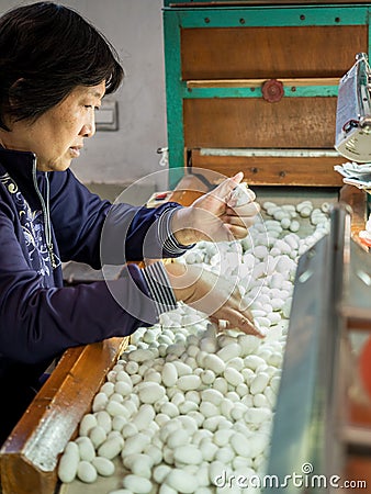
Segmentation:
{"type": "MultiPolygon", "coordinates": [[[[188,205],[205,191],[202,181],[186,176],[170,200],[188,205]]],[[[355,210],[356,229],[361,228],[364,193],[347,187],[342,199],[355,210]]],[[[127,337],[111,338],[64,353],[0,450],[2,494],[55,493],[59,456],[127,343],[127,337]]]]}

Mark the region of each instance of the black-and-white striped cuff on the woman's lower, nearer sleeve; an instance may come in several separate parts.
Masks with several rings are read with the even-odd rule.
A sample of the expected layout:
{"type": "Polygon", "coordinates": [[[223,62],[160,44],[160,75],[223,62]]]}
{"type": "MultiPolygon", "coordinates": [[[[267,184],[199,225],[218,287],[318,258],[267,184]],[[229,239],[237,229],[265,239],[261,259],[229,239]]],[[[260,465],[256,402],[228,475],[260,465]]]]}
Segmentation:
{"type": "Polygon", "coordinates": [[[177,308],[177,299],[162,262],[147,266],[142,269],[142,273],[158,314],[177,308]]]}

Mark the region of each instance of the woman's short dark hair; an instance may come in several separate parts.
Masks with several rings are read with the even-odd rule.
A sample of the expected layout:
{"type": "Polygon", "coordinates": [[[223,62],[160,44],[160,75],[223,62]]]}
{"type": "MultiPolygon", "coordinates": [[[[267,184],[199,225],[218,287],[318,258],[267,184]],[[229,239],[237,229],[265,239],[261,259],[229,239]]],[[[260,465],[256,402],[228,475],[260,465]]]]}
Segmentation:
{"type": "Polygon", "coordinates": [[[78,86],[105,81],[114,92],[123,68],[110,42],[78,12],[42,1],[0,18],[0,127],[36,120],[78,86]]]}

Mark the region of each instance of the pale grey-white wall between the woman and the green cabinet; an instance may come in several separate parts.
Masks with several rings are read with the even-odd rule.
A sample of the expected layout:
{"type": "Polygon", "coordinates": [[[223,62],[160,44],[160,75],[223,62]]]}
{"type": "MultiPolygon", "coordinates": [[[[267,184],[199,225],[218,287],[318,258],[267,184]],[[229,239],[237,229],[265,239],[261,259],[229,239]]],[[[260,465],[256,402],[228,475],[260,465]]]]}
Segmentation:
{"type": "MultiPolygon", "coordinates": [[[[72,165],[85,182],[126,183],[161,169],[157,148],[167,145],[161,0],[59,0],[90,20],[116,48],[124,70],[119,131],[86,139],[72,165]]],[[[0,12],[22,0],[0,0],[0,12]]],[[[166,187],[166,173],[154,181],[166,187]]]]}

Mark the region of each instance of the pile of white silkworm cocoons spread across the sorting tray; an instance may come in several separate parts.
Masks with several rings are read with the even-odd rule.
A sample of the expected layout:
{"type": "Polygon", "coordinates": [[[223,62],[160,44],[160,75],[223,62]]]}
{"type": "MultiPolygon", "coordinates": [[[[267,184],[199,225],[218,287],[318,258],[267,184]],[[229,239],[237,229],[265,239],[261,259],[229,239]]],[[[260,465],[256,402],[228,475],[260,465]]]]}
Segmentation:
{"type": "Polygon", "coordinates": [[[63,483],[114,475],[121,461],[102,494],[259,492],[217,479],[266,473],[297,260],[328,232],[328,209],[265,202],[243,240],[177,260],[235,280],[267,336],[221,330],[184,304],[136,330],[65,448],[63,483]]]}

